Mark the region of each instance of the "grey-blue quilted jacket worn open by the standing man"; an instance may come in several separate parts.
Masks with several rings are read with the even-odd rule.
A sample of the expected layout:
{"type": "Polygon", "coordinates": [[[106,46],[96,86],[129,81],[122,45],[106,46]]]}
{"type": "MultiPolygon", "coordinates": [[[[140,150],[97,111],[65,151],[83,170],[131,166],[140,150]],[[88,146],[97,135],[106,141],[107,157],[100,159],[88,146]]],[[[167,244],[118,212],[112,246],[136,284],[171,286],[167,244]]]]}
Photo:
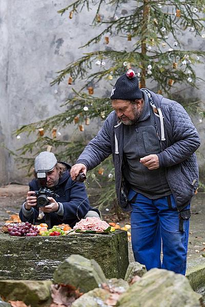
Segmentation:
{"type": "MultiPolygon", "coordinates": [[[[177,209],[181,211],[191,201],[198,185],[195,151],[200,146],[199,135],[189,115],[178,102],[146,91],[150,93],[155,104],[155,123],[161,139],[161,152],[157,154],[159,167],[166,167],[168,184],[176,200],[177,209]]],[[[112,153],[118,203],[122,210],[132,211],[127,200],[129,184],[125,182],[121,172],[124,167],[122,129],[115,112],[111,112],[97,136],[88,143],[76,163],[85,164],[89,170],[112,153]]]]}

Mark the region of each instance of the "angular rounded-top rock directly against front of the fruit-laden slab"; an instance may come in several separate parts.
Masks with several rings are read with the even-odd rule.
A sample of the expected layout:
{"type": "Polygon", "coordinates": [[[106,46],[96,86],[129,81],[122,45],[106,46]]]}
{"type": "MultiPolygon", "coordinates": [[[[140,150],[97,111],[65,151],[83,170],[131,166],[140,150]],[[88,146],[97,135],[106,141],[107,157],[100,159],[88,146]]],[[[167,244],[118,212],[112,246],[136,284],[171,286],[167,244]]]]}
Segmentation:
{"type": "Polygon", "coordinates": [[[80,292],[88,292],[106,282],[106,277],[93,259],[89,260],[80,255],[71,255],[62,262],[53,274],[53,282],[71,284],[80,292]]]}

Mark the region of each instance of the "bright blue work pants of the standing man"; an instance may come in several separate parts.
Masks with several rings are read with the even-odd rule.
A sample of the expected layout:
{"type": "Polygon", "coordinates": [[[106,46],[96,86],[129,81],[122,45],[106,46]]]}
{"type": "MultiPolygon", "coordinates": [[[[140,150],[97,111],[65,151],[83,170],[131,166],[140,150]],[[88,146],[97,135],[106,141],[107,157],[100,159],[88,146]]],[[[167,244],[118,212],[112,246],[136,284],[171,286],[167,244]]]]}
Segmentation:
{"type": "MultiPolygon", "coordinates": [[[[147,270],[161,268],[185,275],[189,238],[189,219],[183,221],[179,230],[179,212],[174,196],[151,200],[132,189],[131,201],[132,250],[135,261],[147,270]],[[162,261],[161,261],[162,247],[162,261]]],[[[189,209],[190,205],[185,208],[189,209]]]]}

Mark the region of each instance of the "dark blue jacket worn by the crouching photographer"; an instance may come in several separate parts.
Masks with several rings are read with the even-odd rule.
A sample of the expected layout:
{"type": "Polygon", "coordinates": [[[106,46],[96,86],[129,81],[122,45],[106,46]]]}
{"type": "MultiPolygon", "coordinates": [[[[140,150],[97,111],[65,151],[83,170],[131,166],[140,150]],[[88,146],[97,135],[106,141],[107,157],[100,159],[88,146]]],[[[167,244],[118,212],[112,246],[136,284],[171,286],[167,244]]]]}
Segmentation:
{"type": "MultiPolygon", "coordinates": [[[[70,166],[66,163],[63,164],[68,167],[68,170],[63,173],[63,176],[59,179],[58,184],[52,188],[52,191],[59,195],[59,197],[55,197],[55,200],[63,204],[64,215],[60,216],[56,212],[50,212],[46,213],[42,220],[37,220],[38,209],[33,207],[34,213],[28,220],[28,218],[24,216],[22,209],[20,209],[19,217],[22,222],[28,221],[35,224],[37,221],[38,223],[45,223],[49,218],[51,227],[62,223],[69,224],[73,227],[81,218],[84,218],[89,210],[96,211],[99,214],[97,209],[93,209],[90,206],[85,184],[73,181],[70,177],[70,166]]],[[[40,186],[37,179],[33,179],[29,183],[29,188],[30,191],[39,190],[40,186]]]]}

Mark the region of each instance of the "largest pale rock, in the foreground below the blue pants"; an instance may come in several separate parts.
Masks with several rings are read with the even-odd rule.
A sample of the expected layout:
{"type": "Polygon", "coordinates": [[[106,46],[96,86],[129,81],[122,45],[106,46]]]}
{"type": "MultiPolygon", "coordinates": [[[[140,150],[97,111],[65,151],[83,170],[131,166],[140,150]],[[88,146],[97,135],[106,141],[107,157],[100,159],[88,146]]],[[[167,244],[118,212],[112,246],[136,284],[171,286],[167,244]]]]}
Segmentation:
{"type": "Polygon", "coordinates": [[[163,269],[152,269],[133,283],[117,301],[119,307],[200,307],[187,277],[163,269]]]}

